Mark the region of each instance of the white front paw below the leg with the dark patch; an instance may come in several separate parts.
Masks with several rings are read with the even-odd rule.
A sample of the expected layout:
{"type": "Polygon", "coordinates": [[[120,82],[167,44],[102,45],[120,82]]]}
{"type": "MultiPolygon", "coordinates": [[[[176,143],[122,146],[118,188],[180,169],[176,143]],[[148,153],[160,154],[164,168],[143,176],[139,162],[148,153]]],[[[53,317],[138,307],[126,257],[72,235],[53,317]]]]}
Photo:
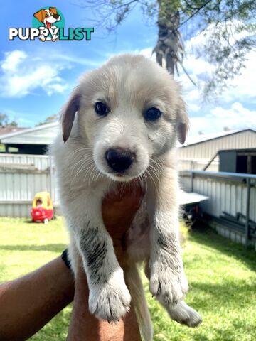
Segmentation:
{"type": "Polygon", "coordinates": [[[122,269],[115,271],[107,282],[90,286],[89,309],[97,318],[119,321],[129,311],[130,302],[122,269]]]}

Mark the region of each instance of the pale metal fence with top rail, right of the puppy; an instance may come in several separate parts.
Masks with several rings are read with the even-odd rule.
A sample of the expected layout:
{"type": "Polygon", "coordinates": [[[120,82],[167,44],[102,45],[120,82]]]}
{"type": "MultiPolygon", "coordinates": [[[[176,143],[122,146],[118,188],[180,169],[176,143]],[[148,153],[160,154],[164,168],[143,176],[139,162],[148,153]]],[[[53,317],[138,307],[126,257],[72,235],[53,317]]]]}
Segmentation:
{"type": "MultiPolygon", "coordinates": [[[[238,213],[242,213],[248,220],[256,223],[256,179],[255,175],[245,174],[251,178],[250,196],[247,196],[247,185],[244,180],[238,181],[235,177],[242,176],[239,173],[220,173],[217,172],[181,172],[181,186],[183,190],[188,192],[196,192],[201,195],[206,195],[209,200],[201,203],[204,213],[213,217],[220,217],[223,212],[235,217],[238,213]],[[227,178],[218,178],[216,175],[228,174],[227,178]],[[233,174],[231,179],[228,176],[233,174]],[[235,180],[233,180],[235,179],[235,180]],[[247,207],[247,200],[249,200],[247,207]],[[248,211],[247,211],[248,208],[248,211]]],[[[232,239],[235,242],[245,244],[245,232],[238,232],[225,225],[215,224],[217,231],[225,237],[232,239]]],[[[256,239],[253,239],[252,244],[255,245],[256,239]]]]}

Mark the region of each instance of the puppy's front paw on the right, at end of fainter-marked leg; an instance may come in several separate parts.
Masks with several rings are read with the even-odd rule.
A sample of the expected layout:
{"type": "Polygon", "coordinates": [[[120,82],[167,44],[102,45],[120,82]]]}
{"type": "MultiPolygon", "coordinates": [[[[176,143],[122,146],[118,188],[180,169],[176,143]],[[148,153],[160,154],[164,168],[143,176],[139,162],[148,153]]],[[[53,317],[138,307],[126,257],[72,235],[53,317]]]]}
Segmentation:
{"type": "Polygon", "coordinates": [[[184,298],[188,292],[188,281],[183,273],[176,274],[169,269],[157,270],[151,272],[149,288],[153,296],[156,296],[162,305],[169,307],[184,298]]]}

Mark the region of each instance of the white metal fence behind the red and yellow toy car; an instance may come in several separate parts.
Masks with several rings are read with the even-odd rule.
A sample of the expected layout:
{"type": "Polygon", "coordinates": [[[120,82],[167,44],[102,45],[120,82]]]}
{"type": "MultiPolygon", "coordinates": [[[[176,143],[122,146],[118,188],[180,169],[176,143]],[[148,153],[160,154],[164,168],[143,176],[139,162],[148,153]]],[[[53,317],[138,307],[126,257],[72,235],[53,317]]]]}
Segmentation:
{"type": "Polygon", "coordinates": [[[33,197],[41,191],[56,202],[54,173],[49,156],[0,154],[0,216],[30,217],[33,197]]]}

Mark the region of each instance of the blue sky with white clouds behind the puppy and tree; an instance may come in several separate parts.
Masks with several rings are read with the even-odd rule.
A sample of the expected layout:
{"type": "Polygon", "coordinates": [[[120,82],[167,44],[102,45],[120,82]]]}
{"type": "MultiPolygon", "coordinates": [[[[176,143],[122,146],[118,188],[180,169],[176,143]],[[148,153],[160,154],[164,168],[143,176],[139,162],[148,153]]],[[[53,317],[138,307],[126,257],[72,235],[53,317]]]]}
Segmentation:
{"type": "MultiPolygon", "coordinates": [[[[90,11],[81,9],[78,0],[5,1],[1,4],[4,21],[0,28],[0,112],[16,119],[20,126],[34,126],[46,117],[58,113],[65,104],[78,77],[105,62],[117,53],[143,53],[150,58],[157,39],[156,26],[147,26],[139,7],[132,11],[119,27],[117,34],[106,36],[102,29],[92,33],[91,41],[41,42],[8,39],[9,27],[31,27],[33,13],[44,6],[55,6],[65,17],[65,27],[90,27],[90,11]],[[11,13],[11,15],[10,15],[11,13]]],[[[3,19],[2,19],[3,20],[3,19]]],[[[212,65],[193,53],[203,37],[186,41],[187,58],[184,65],[199,86],[202,75],[210,72],[212,65]]],[[[211,133],[230,129],[256,127],[255,80],[256,67],[248,56],[247,68],[235,77],[230,87],[215,104],[201,104],[200,92],[185,75],[178,78],[191,117],[191,134],[198,131],[211,133]]]]}

